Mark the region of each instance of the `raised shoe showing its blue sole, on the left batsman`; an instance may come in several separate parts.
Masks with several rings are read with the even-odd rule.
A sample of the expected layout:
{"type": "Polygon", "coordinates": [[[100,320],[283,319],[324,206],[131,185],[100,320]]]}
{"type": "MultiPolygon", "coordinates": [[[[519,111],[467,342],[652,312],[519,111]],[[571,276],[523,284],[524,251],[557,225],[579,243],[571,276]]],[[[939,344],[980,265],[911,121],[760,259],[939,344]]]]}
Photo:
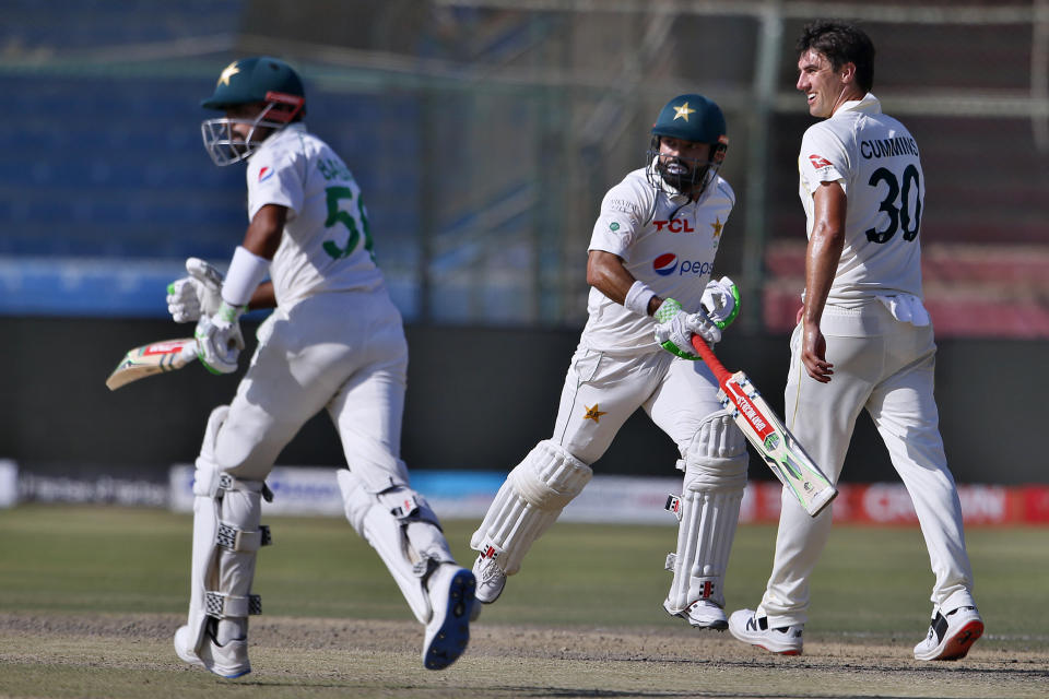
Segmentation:
{"type": "Polygon", "coordinates": [[[433,616],[423,641],[426,670],[444,670],[467,650],[475,587],[473,573],[455,564],[443,564],[429,574],[426,591],[433,616]]]}

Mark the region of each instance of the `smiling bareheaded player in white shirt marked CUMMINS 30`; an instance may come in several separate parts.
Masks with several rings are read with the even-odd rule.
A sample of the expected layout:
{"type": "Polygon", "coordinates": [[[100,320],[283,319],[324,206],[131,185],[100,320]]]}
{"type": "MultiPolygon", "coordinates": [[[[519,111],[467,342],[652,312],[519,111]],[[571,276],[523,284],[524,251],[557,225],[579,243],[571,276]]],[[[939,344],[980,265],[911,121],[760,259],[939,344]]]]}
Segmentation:
{"type": "MultiPolygon", "coordinates": [[[[918,143],[870,92],[874,46],[865,33],[815,22],[797,50],[797,87],[810,114],[824,120],[805,131],[798,157],[809,247],[804,306],[790,341],[788,427],[837,483],[856,418],[870,413],[910,494],[935,574],[932,624],[915,657],[957,660],[983,623],[933,398],[918,143]]],[[[756,611],[732,614],[733,636],[775,653],[802,652],[809,577],[829,535],[830,511],[811,518],[785,490],[765,596],[756,611]]]]}

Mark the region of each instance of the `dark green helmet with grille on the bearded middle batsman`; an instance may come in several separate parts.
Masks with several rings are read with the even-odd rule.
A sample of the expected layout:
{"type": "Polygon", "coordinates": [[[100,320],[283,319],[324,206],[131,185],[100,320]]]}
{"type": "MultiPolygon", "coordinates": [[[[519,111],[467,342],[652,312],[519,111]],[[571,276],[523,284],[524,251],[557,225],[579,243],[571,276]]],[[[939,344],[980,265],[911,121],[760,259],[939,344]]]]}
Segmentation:
{"type": "Polygon", "coordinates": [[[652,143],[648,151],[647,166],[649,182],[668,193],[686,193],[698,199],[714,181],[728,147],[724,115],[718,105],[703,95],[677,95],[667,103],[652,125],[652,143]],[[668,161],[660,157],[661,137],[692,143],[709,143],[709,159],[699,163],[692,158],[675,157],[668,161]],[[665,186],[671,189],[668,190],[665,186]]]}

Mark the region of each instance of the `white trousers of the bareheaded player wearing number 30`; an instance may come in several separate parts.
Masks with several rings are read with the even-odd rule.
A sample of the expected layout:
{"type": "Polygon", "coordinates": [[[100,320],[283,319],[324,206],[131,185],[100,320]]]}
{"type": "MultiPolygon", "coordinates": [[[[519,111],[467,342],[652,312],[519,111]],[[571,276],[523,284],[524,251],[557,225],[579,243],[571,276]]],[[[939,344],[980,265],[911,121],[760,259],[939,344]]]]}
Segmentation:
{"type": "MultiPolygon", "coordinates": [[[[933,398],[932,327],[898,321],[874,300],[857,310],[827,305],[821,329],[834,375],[829,383],[809,376],[795,328],[783,408],[788,429],[837,483],[856,418],[867,408],[918,513],[935,576],[933,604],[944,613],[975,605],[962,506],[933,398]]],[[[776,558],[758,609],[771,628],[808,619],[809,576],[830,533],[832,510],[811,518],[783,490],[776,558]]]]}

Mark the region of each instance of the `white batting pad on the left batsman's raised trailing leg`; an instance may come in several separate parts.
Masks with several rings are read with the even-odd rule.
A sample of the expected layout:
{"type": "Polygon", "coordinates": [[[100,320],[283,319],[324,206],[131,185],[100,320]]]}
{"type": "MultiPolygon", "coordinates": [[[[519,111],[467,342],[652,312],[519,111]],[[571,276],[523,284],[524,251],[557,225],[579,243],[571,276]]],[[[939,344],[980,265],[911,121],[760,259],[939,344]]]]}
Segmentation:
{"type": "Polygon", "coordinates": [[[346,519],[379,554],[420,624],[433,616],[424,587],[433,564],[455,562],[426,500],[410,488],[373,494],[346,469],[337,478],[346,519]]]}

